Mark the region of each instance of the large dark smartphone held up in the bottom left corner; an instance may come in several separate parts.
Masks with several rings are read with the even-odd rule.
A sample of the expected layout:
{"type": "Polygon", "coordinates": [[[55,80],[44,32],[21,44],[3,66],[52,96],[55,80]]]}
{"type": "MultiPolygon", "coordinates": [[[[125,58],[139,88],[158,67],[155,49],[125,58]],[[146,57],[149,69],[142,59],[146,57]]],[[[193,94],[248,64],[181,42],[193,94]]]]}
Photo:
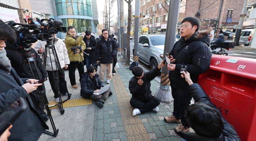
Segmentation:
{"type": "Polygon", "coordinates": [[[24,98],[18,98],[0,115],[0,135],[20,117],[26,108],[24,98]]]}

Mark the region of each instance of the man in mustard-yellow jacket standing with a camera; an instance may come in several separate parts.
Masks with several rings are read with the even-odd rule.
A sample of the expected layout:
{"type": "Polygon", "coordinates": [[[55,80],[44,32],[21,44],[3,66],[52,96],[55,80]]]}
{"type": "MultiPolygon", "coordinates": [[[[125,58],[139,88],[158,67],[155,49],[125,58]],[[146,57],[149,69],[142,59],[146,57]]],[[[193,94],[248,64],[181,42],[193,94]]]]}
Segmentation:
{"type": "Polygon", "coordinates": [[[83,51],[86,49],[85,43],[83,41],[85,33],[78,36],[75,32],[74,26],[68,26],[68,32],[65,38],[66,48],[68,50],[68,58],[70,64],[68,66],[68,76],[70,83],[73,88],[77,89],[75,82],[75,69],[79,72],[79,81],[84,74],[84,54],[83,51]]]}

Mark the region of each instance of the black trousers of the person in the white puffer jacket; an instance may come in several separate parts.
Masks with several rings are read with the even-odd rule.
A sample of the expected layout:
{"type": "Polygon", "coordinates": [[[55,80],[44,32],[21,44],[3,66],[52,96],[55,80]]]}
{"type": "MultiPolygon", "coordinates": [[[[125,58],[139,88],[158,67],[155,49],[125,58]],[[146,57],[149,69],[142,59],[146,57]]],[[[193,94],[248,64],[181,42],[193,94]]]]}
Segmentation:
{"type": "Polygon", "coordinates": [[[54,98],[59,98],[60,97],[56,85],[59,85],[60,93],[62,95],[68,93],[67,82],[65,80],[64,68],[61,69],[61,72],[62,72],[63,76],[60,76],[60,73],[57,73],[57,71],[47,71],[48,79],[49,79],[49,82],[51,84],[51,89],[53,90],[53,93],[54,93],[54,98]],[[55,79],[53,78],[53,74],[54,74],[55,77],[59,76],[59,82],[55,83],[55,79]]]}

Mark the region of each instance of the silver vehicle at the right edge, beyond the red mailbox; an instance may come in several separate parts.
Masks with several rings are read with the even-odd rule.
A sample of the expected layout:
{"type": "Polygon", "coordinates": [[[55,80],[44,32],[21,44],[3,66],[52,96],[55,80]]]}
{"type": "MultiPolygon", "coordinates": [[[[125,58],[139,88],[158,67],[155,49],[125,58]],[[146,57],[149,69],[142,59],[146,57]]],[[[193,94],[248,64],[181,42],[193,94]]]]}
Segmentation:
{"type": "MultiPolygon", "coordinates": [[[[241,31],[239,44],[244,44],[245,46],[249,46],[250,41],[252,39],[252,33],[254,29],[244,29],[241,31]]],[[[236,35],[234,35],[233,40],[235,39],[236,35]]]]}

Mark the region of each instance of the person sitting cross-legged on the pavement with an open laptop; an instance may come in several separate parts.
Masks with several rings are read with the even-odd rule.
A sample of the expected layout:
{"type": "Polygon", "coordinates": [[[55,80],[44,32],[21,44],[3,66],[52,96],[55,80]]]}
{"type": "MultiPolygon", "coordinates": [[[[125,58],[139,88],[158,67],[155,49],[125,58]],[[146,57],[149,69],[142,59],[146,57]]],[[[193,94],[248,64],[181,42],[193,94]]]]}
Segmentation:
{"type": "Polygon", "coordinates": [[[105,100],[108,98],[108,96],[112,95],[112,92],[110,91],[110,88],[108,88],[108,91],[96,95],[93,93],[99,93],[99,89],[103,86],[103,82],[99,79],[99,75],[96,74],[97,69],[95,66],[91,65],[88,67],[87,72],[85,72],[81,79],[81,91],[80,94],[83,98],[91,98],[92,100],[96,101],[96,105],[99,108],[103,107],[103,104],[105,103],[105,100]]]}

